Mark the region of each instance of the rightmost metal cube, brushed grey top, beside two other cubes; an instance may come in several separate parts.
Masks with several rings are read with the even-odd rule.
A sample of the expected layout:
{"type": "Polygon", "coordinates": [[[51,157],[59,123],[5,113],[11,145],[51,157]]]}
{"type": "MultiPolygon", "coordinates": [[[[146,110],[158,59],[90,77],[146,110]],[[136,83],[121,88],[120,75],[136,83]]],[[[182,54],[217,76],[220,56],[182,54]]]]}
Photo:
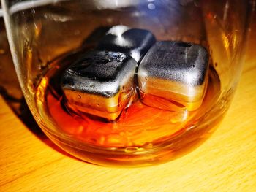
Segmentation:
{"type": "Polygon", "coordinates": [[[143,103],[164,110],[173,110],[172,104],[196,110],[206,93],[207,72],[208,52],[204,47],[186,42],[157,42],[140,62],[140,98],[143,103]]]}

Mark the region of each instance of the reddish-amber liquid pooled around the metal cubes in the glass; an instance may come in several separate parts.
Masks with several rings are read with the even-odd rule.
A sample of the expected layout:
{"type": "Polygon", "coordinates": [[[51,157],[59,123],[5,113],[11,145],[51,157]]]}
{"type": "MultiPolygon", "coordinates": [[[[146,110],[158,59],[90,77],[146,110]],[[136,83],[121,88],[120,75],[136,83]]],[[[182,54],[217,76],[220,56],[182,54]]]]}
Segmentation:
{"type": "MultiPolygon", "coordinates": [[[[103,150],[121,150],[124,153],[154,150],[154,147],[186,134],[214,106],[219,96],[219,77],[211,66],[203,104],[192,112],[149,107],[140,101],[138,93],[135,93],[132,104],[121,112],[117,120],[110,121],[82,112],[72,112],[61,91],[60,77],[64,69],[80,54],[66,55],[50,64],[50,69],[37,87],[36,102],[39,114],[44,120],[51,121],[57,132],[83,145],[103,150]]],[[[123,158],[126,158],[125,155],[123,158]]]]}

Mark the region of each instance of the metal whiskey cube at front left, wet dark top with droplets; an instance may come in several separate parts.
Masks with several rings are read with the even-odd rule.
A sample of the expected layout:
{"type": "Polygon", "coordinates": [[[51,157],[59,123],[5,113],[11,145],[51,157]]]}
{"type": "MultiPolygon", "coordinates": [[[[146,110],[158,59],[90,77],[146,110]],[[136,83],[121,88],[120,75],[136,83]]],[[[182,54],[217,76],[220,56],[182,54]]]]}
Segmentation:
{"type": "Polygon", "coordinates": [[[115,120],[134,88],[137,62],[124,53],[92,51],[69,66],[61,77],[72,110],[115,120]]]}

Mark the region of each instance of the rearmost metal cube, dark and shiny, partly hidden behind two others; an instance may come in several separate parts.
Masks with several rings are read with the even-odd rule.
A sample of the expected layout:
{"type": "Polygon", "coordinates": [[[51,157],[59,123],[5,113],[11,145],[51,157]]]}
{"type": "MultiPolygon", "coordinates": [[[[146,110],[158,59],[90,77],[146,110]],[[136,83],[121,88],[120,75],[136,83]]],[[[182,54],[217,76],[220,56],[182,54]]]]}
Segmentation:
{"type": "Polygon", "coordinates": [[[97,50],[126,53],[139,62],[155,42],[156,38],[150,31],[113,26],[99,42],[97,50]]]}

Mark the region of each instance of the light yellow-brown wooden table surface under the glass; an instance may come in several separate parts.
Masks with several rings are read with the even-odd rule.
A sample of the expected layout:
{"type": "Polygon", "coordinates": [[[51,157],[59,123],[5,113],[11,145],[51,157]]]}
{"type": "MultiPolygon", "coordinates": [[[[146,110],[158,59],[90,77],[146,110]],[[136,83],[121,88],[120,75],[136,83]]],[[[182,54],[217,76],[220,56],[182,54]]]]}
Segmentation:
{"type": "Polygon", "coordinates": [[[124,169],[78,161],[31,132],[0,98],[0,191],[256,191],[253,35],[236,96],[217,131],[166,164],[124,169]]]}

